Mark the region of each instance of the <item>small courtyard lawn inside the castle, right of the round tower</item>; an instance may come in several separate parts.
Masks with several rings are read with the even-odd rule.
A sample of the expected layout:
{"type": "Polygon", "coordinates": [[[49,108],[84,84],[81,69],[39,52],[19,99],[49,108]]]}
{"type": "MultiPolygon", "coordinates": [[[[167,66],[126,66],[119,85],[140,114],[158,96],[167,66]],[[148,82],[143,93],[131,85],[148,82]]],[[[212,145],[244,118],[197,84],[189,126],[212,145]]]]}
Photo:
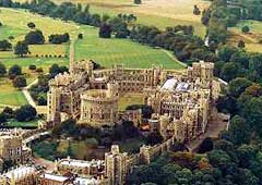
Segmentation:
{"type": "Polygon", "coordinates": [[[118,110],[124,111],[131,104],[143,104],[143,96],[140,94],[121,95],[118,101],[118,110]]]}

